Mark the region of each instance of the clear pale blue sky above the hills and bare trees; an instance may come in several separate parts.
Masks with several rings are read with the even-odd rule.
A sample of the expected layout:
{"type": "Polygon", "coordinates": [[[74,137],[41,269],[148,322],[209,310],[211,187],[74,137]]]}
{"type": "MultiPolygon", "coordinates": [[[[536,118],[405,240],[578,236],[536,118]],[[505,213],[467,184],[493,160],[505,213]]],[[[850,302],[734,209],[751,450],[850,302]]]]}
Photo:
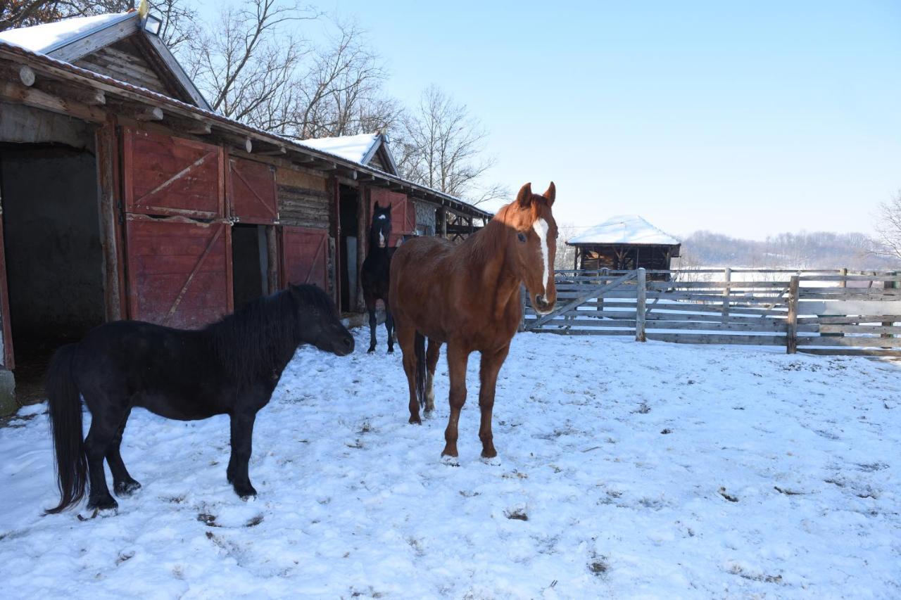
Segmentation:
{"type": "Polygon", "coordinates": [[[414,105],[491,133],[490,177],[553,179],[559,223],[870,232],[901,189],[901,3],[381,2],[356,16],[414,105]]]}

